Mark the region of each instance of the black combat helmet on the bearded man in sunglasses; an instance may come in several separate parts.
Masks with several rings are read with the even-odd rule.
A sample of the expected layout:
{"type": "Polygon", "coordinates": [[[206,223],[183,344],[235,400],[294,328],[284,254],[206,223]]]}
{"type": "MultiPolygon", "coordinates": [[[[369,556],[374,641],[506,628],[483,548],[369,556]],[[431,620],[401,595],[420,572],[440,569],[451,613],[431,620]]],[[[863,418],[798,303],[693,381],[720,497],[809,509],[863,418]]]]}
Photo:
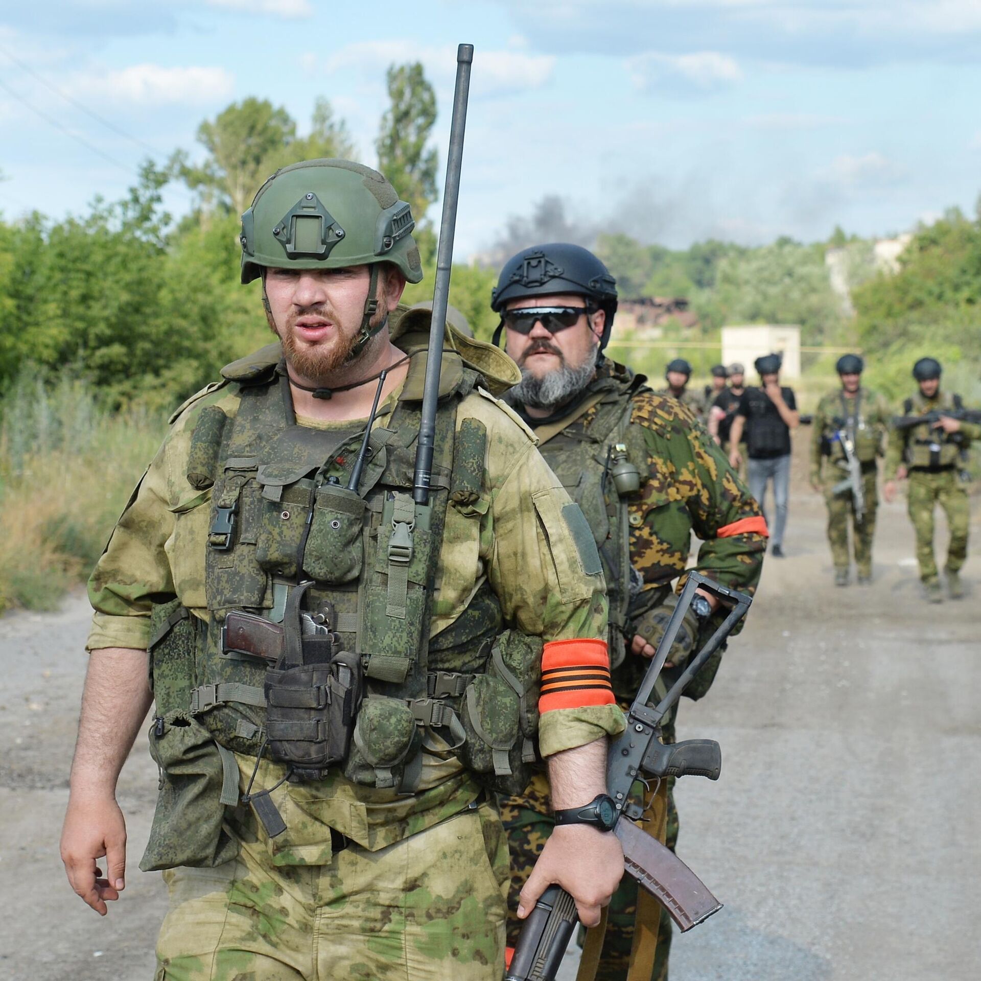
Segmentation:
{"type": "MultiPolygon", "coordinates": [[[[490,293],[490,309],[502,313],[510,300],[524,297],[551,296],[556,293],[576,293],[592,301],[594,307],[606,313],[602,350],[609,340],[616,313],[616,280],[609,270],[589,250],[569,242],[549,242],[522,249],[504,263],[496,287],[490,293]]],[[[496,344],[503,330],[501,320],[494,331],[496,344]]]]}

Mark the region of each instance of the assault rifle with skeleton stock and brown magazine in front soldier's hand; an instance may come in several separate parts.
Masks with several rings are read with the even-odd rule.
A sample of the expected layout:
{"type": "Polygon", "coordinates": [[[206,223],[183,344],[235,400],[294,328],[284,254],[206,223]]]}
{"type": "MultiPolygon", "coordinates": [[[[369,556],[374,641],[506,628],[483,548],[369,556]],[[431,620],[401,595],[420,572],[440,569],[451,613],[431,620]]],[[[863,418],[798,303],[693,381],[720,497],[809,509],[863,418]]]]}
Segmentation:
{"type": "MultiPolygon", "coordinates": [[[[722,904],[674,852],[634,823],[644,819],[644,807],[631,799],[631,792],[636,782],[645,783],[649,778],[662,780],[695,775],[718,780],[722,771],[722,752],[718,743],[689,740],[665,746],[660,740],[660,726],[702,665],[746,616],[751,601],[747,594],[720,586],[697,572],[689,573],[644,682],[630,706],[627,728],[607,751],[606,788],[616,805],[617,822],[613,833],[623,846],[624,869],[667,909],[683,933],[717,912],[722,904]],[[648,700],[654,683],[698,589],[717,596],[724,606],[729,607],[729,613],[667,695],[651,706],[648,700]]],[[[573,898],[559,886],[549,886],[521,928],[505,981],[551,981],[577,921],[573,898]]]]}

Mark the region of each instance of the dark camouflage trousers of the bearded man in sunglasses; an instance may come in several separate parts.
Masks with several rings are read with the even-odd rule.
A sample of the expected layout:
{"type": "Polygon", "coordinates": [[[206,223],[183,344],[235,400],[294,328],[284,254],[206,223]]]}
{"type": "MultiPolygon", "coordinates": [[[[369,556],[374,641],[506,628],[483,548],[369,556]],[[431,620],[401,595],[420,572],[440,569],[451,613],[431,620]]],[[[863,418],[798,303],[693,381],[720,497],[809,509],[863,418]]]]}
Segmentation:
{"type": "MultiPolygon", "coordinates": [[[[673,852],[678,841],[678,811],[674,804],[674,778],[668,780],[668,848],[673,852]]],[[[507,832],[511,852],[511,889],[507,902],[507,945],[518,942],[522,921],[518,919],[518,894],[531,875],[532,867],[542,853],[554,822],[548,800],[548,781],[537,775],[520,797],[501,797],[500,816],[507,832]]],[[[606,935],[603,938],[597,981],[625,981],[634,941],[637,914],[637,880],[625,875],[613,894],[607,909],[606,935]]],[[[668,954],[671,949],[671,917],[661,909],[657,933],[657,951],[651,981],[667,981],[668,954]]],[[[580,946],[583,937],[580,936],[580,946]]]]}

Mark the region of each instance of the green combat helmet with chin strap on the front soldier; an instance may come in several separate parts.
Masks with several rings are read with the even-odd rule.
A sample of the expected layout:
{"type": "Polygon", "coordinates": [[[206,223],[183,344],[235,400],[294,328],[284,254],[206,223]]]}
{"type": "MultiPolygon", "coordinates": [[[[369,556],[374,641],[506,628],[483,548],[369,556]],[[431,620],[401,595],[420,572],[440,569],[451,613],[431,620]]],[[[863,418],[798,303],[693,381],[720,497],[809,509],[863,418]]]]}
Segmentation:
{"type": "Polygon", "coordinates": [[[385,324],[371,326],[378,310],[379,263],[397,266],[409,283],[423,278],[412,237],[415,224],[409,205],[370,167],[326,159],[291,164],[259,188],[242,215],[241,282],[251,283],[269,267],[371,266],[356,356],[385,324]]]}

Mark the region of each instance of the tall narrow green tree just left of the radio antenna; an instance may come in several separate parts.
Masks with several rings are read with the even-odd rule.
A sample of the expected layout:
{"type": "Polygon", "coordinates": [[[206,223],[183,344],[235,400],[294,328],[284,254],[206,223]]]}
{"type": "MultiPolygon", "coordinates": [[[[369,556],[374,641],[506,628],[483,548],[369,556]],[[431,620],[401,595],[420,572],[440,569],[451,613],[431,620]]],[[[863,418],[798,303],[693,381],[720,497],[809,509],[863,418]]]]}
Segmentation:
{"type": "Polygon", "coordinates": [[[379,170],[421,222],[437,198],[438,156],[427,145],[436,123],[436,91],[420,62],[390,65],[386,81],[391,104],[375,142],[379,170]]]}

